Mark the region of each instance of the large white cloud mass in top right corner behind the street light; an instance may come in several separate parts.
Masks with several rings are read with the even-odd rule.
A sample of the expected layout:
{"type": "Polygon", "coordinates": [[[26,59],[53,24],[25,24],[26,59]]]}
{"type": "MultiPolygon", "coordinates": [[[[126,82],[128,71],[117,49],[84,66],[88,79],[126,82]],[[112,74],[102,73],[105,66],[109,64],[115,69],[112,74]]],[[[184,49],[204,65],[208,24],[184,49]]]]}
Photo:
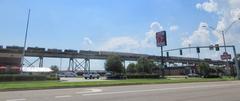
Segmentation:
{"type": "Polygon", "coordinates": [[[218,38],[216,43],[223,44],[221,31],[227,31],[225,33],[226,44],[236,44],[239,43],[240,37],[240,21],[237,21],[240,18],[240,0],[226,0],[224,2],[216,1],[219,5],[218,14],[219,21],[216,25],[216,31],[213,31],[213,34],[218,38]],[[231,24],[234,23],[232,26],[231,24]],[[231,26],[231,27],[229,27],[231,26]]]}

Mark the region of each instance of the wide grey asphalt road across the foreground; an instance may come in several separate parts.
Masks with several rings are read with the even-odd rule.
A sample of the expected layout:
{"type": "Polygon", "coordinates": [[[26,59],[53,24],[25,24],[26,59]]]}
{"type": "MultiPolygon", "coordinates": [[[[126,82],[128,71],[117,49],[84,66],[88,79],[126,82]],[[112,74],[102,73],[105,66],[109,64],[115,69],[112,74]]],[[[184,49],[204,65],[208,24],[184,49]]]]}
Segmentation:
{"type": "Polygon", "coordinates": [[[240,81],[0,92],[0,101],[239,101],[240,81]]]}

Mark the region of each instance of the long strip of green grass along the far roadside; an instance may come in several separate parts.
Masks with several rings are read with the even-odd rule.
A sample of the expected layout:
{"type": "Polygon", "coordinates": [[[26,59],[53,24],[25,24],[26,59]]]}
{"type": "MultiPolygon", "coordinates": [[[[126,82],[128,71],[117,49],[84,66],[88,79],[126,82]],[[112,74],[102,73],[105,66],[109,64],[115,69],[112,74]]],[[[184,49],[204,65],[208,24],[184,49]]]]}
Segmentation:
{"type": "Polygon", "coordinates": [[[60,81],[21,81],[21,82],[0,82],[0,91],[7,90],[30,90],[49,88],[73,88],[73,87],[96,87],[115,85],[136,85],[136,84],[166,84],[166,83],[190,83],[190,82],[211,82],[228,81],[233,78],[167,78],[167,79],[127,79],[127,80],[107,80],[107,81],[87,81],[87,82],[60,82],[60,81]]]}

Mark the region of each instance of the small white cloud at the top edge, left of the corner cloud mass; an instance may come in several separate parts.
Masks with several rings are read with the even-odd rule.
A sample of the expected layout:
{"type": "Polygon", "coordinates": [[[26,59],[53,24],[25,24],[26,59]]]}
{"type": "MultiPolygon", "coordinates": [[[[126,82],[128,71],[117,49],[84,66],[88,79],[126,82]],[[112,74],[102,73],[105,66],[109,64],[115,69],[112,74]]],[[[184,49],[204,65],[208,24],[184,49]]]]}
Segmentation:
{"type": "Polygon", "coordinates": [[[197,9],[202,9],[207,12],[216,12],[218,11],[218,4],[214,0],[209,0],[207,2],[196,4],[197,9]]]}

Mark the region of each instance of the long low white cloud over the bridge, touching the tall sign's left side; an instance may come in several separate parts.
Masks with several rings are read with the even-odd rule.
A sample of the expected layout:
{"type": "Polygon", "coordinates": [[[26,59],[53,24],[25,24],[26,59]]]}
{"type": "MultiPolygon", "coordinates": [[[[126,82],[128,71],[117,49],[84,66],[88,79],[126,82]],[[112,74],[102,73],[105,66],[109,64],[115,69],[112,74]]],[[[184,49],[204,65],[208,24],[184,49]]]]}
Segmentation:
{"type": "Polygon", "coordinates": [[[146,32],[144,39],[137,40],[130,36],[113,37],[103,44],[101,50],[142,53],[145,50],[156,48],[155,34],[162,30],[163,27],[159,22],[153,22],[150,24],[150,29],[146,32]]]}

